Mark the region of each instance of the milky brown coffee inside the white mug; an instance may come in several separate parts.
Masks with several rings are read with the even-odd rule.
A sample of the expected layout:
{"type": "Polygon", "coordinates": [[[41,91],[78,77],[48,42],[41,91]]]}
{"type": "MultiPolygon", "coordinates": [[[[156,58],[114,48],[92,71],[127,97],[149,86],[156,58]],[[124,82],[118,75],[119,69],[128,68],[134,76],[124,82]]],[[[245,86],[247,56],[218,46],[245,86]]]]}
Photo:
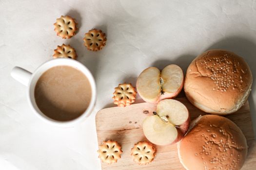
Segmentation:
{"type": "Polygon", "coordinates": [[[47,117],[58,121],[78,118],[88,108],[92,89],[88,78],[71,66],[46,70],[35,86],[35,101],[47,117]]]}

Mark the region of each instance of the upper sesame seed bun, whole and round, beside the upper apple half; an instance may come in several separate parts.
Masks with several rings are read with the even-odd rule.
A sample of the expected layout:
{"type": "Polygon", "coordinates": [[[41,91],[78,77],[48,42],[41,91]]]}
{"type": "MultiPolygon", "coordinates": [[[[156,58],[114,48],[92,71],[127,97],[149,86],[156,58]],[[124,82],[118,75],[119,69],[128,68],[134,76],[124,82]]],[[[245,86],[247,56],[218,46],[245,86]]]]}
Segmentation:
{"type": "Polygon", "coordinates": [[[252,83],[252,72],[242,57],[226,50],[209,50],[188,67],[184,91],[197,108],[225,115],[246,102],[252,83]]]}

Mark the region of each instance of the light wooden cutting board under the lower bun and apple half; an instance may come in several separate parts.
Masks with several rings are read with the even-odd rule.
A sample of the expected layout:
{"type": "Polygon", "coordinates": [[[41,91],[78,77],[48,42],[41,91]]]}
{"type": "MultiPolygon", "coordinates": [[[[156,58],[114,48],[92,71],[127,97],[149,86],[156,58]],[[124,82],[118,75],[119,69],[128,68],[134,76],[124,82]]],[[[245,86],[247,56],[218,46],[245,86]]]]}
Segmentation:
{"type": "MultiPolygon", "coordinates": [[[[206,113],[197,109],[185,97],[176,100],[185,104],[190,111],[191,119],[206,113]]],[[[143,135],[142,121],[152,115],[156,104],[138,103],[127,107],[111,107],[98,111],[96,115],[96,129],[98,144],[103,140],[116,140],[122,146],[121,159],[112,165],[101,163],[102,170],[184,170],[177,155],[177,144],[169,146],[155,146],[157,155],[148,165],[138,165],[133,162],[131,148],[134,144],[147,140],[143,135]]],[[[236,113],[226,116],[236,123],[242,130],[249,146],[248,156],[242,170],[256,170],[256,141],[248,101],[236,113]]]]}

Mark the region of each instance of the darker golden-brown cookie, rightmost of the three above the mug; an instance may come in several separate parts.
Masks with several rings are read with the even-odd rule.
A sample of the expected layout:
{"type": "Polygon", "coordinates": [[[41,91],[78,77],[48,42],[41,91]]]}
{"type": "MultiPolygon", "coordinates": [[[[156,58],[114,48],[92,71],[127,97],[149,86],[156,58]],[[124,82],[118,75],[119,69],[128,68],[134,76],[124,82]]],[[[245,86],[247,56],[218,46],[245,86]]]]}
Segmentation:
{"type": "Polygon", "coordinates": [[[93,29],[85,34],[83,41],[87,50],[98,51],[106,45],[107,39],[101,30],[93,29]]]}

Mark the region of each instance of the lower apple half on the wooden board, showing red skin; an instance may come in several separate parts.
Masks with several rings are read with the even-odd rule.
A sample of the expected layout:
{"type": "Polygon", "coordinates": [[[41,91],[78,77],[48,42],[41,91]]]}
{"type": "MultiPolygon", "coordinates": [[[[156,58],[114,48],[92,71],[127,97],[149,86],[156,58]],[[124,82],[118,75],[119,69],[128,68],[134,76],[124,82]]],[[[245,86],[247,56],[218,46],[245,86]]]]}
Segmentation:
{"type": "Polygon", "coordinates": [[[177,143],[188,131],[190,116],[184,104],[173,99],[158,103],[157,111],[143,121],[143,133],[156,145],[177,143]]]}

